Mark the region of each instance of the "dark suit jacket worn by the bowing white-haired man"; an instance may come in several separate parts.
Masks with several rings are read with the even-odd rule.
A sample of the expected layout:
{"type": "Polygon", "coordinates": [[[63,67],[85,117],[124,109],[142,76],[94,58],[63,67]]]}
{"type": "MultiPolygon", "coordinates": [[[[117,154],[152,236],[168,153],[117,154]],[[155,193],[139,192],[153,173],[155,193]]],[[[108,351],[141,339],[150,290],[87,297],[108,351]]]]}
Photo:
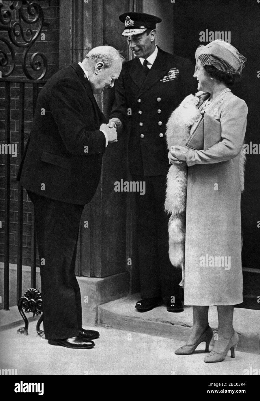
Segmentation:
{"type": "Polygon", "coordinates": [[[103,122],[105,117],[77,63],[54,74],[39,93],[17,180],[51,199],[88,203],[98,186],[106,149],[99,130],[103,122]]]}

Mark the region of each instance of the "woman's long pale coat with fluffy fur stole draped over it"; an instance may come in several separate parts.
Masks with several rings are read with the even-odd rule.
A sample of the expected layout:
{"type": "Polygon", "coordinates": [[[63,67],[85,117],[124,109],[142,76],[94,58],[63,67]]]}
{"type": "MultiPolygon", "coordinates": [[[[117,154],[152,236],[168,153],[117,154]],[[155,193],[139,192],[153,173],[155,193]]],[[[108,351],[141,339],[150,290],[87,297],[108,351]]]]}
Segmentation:
{"type": "MultiPolygon", "coordinates": [[[[176,109],[171,115],[167,131],[169,148],[187,141],[183,136],[195,124],[198,101],[198,97],[189,95],[178,107],[179,113],[176,109]]],[[[187,181],[185,164],[173,165],[169,170],[165,207],[172,213],[170,258],[178,265],[185,253],[185,305],[234,305],[243,302],[240,192],[244,186],[244,155],[241,149],[248,108],[242,99],[228,92],[207,113],[221,123],[222,141],[205,151],[187,151],[187,181]]]]}

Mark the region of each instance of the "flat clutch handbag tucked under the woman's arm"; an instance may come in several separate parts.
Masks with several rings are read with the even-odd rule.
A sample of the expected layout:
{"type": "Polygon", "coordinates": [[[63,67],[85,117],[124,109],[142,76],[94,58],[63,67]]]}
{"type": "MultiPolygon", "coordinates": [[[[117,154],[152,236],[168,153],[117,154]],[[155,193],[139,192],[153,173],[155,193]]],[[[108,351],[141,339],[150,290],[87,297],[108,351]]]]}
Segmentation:
{"type": "Polygon", "coordinates": [[[207,150],[221,140],[220,121],[204,113],[186,146],[194,150],[207,150]]]}

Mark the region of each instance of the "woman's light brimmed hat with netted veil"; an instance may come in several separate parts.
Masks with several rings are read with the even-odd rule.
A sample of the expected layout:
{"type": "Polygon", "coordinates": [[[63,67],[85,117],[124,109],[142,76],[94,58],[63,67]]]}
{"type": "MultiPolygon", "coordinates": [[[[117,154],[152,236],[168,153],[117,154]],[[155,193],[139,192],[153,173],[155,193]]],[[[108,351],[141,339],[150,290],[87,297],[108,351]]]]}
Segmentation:
{"type": "Polygon", "coordinates": [[[246,57],[242,56],[236,47],[230,43],[217,39],[208,45],[200,45],[195,53],[197,71],[198,60],[201,65],[213,65],[219,71],[235,75],[241,79],[242,69],[245,66],[246,57]]]}

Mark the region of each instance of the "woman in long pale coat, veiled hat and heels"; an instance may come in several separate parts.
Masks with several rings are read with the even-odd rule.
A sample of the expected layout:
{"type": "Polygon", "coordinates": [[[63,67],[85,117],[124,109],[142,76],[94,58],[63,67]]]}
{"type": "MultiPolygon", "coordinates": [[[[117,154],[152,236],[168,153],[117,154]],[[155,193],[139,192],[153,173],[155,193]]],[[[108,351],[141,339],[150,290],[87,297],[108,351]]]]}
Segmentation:
{"type": "MultiPolygon", "coordinates": [[[[235,77],[241,77],[246,59],[229,43],[217,40],[200,46],[196,61],[194,77],[202,92],[184,99],[171,115],[167,130],[168,157],[173,164],[165,203],[172,213],[170,258],[175,264],[175,242],[178,234],[181,242],[181,233],[185,232],[185,250],[184,242],[183,251],[179,248],[183,258],[185,254],[184,304],[193,306],[193,330],[175,354],[191,354],[203,341],[208,351],[213,336],[208,310],[209,306],[217,306],[218,338],[204,361],[220,362],[228,350],[235,356],[238,334],[233,328],[233,311],[234,305],[243,302],[240,192],[244,185],[242,147],[248,108],[229,88],[235,77]],[[219,124],[221,140],[205,150],[193,150],[185,143],[201,113],[219,124]]],[[[204,134],[212,133],[204,130],[204,134]]],[[[180,255],[178,258],[180,262],[180,255]]]]}

